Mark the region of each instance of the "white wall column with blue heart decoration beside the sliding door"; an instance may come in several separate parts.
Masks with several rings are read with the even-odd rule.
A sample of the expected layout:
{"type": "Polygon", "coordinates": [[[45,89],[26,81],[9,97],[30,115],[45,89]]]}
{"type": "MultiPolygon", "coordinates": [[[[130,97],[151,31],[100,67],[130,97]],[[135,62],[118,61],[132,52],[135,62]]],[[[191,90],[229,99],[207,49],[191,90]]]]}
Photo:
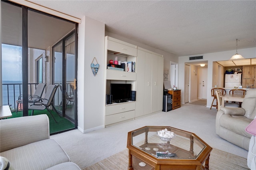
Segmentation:
{"type": "Polygon", "coordinates": [[[85,133],[104,127],[105,24],[84,16],[78,26],[78,129],[85,133]],[[100,65],[94,77],[90,64],[100,65]]]}

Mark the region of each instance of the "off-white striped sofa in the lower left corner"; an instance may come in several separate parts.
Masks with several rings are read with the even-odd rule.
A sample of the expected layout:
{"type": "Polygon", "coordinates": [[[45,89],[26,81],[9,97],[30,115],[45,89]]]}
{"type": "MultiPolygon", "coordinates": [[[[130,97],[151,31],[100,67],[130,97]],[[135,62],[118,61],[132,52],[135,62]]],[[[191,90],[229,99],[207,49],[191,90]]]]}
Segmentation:
{"type": "Polygon", "coordinates": [[[47,115],[0,120],[0,156],[16,170],[80,170],[50,139],[47,115]]]}

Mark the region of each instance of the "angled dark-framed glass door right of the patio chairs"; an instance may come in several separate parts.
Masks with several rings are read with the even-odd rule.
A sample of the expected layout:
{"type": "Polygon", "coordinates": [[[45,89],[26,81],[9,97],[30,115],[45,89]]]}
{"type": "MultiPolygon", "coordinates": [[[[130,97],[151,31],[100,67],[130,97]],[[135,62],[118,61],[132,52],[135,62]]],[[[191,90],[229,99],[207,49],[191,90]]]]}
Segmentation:
{"type": "MultiPolygon", "coordinates": [[[[53,46],[53,81],[58,85],[54,96],[54,106],[62,117],[76,125],[76,37],[72,31],[53,46]]],[[[74,128],[74,127],[73,127],[74,128]]]]}

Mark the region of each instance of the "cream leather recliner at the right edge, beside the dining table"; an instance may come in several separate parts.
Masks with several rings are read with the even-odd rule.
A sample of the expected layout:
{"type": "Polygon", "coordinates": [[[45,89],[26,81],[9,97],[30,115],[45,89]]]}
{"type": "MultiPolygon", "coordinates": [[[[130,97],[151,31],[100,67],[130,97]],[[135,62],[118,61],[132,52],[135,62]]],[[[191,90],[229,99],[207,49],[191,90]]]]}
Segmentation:
{"type": "Polygon", "coordinates": [[[241,108],[222,107],[216,115],[216,134],[229,142],[249,149],[252,134],[245,128],[256,116],[256,89],[246,92],[241,108]]]}

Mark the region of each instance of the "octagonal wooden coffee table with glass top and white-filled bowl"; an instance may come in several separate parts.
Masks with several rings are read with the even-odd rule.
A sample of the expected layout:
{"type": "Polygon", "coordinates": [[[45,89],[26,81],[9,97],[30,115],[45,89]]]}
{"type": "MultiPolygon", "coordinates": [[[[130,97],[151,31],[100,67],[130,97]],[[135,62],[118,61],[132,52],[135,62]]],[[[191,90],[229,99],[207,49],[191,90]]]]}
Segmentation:
{"type": "Polygon", "coordinates": [[[142,127],[128,132],[128,170],[208,170],[212,148],[196,134],[173,127],[142,127]],[[174,132],[170,141],[159,130],[174,132]]]}

